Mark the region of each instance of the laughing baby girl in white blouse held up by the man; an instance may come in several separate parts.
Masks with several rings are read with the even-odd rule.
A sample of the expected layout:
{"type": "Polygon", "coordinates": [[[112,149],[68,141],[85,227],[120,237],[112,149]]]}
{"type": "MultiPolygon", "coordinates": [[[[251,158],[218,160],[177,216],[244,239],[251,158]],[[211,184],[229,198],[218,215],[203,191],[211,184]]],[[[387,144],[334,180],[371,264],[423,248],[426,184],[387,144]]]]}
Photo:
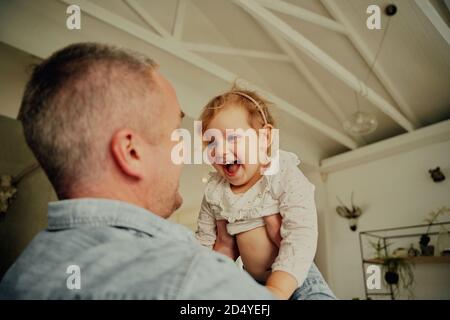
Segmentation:
{"type": "Polygon", "coordinates": [[[271,145],[269,103],[254,92],[233,88],[215,97],[200,120],[202,134],[215,129],[222,135],[208,141],[216,172],[206,185],[196,237],[234,260],[240,256],[253,278],[288,299],[305,280],[316,252],[314,186],[298,169],[296,155],[271,145]],[[248,129],[259,135],[256,150],[265,148],[267,161],[249,161],[255,149],[247,135],[236,134],[248,129]]]}

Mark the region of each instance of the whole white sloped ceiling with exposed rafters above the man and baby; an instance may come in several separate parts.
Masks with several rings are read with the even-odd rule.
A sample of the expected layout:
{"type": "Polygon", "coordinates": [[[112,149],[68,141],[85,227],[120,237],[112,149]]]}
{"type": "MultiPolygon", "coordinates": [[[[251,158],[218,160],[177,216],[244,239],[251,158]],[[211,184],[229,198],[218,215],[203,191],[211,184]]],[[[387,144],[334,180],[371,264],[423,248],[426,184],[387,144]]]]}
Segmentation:
{"type": "MultiPolygon", "coordinates": [[[[32,32],[37,33],[43,27],[34,21],[30,25],[36,26],[36,31],[30,30],[28,37],[17,34],[19,31],[16,34],[6,31],[2,26],[5,34],[10,32],[5,37],[2,36],[2,39],[9,37],[9,42],[16,42],[13,45],[17,47],[26,47],[27,42],[35,42],[33,45],[36,51],[45,56],[58,49],[57,44],[64,44],[65,39],[70,38],[72,42],[101,41],[102,35],[105,39],[112,38],[109,30],[119,30],[120,33],[112,38],[117,43],[125,43],[136,50],[145,51],[161,63],[161,70],[175,83],[181,104],[191,119],[199,115],[203,104],[212,95],[230,86],[224,80],[230,80],[230,75],[233,75],[250,82],[250,87],[255,85],[262,89],[263,94],[276,97],[280,108],[274,110],[274,113],[281,129],[282,145],[313,153],[309,159],[314,164],[349,150],[349,143],[342,142],[347,138],[342,138],[346,133],[342,129],[341,120],[356,110],[355,91],[339,79],[339,74],[331,73],[330,66],[324,67],[313,59],[315,56],[299,50],[298,43],[289,41],[289,37],[284,38],[280,30],[273,25],[269,26],[266,20],[250,15],[238,1],[72,1],[80,4],[88,15],[83,17],[83,30],[77,34],[64,30],[66,16],[60,14],[61,8],[70,2],[2,0],[4,10],[0,11],[4,12],[3,23],[13,24],[13,20],[20,20],[20,17],[14,15],[23,11],[23,8],[35,12],[36,17],[37,12],[42,11],[42,15],[58,23],[55,28],[60,30],[57,30],[56,35],[61,38],[58,39],[59,42],[51,39],[54,42],[52,45],[46,45],[45,41],[39,42],[32,32]],[[92,5],[95,7],[94,11],[92,5]],[[178,8],[183,6],[184,12],[180,10],[177,17],[178,8]],[[115,15],[112,18],[111,13],[115,15]],[[179,32],[174,32],[177,21],[179,32]],[[274,40],[262,26],[275,32],[277,38],[274,40]],[[289,61],[292,58],[288,58],[285,50],[277,43],[280,39],[285,44],[289,42],[287,46],[303,62],[310,76],[299,71],[289,61]],[[222,51],[228,48],[251,50],[251,54],[255,51],[272,53],[277,57],[284,57],[284,61],[190,51],[196,44],[206,45],[209,49],[217,49],[219,46],[222,51]],[[41,47],[45,50],[41,50],[41,47]],[[191,64],[192,61],[195,65],[191,64]],[[311,77],[316,82],[315,88],[311,85],[311,77]],[[324,95],[331,101],[324,101],[324,95]],[[311,122],[314,122],[313,125],[311,122]]],[[[246,3],[253,3],[253,0],[246,3]]],[[[267,8],[273,19],[281,19],[295,34],[310,40],[336,64],[363,81],[368,78],[366,85],[416,129],[450,118],[450,46],[444,39],[445,35],[435,27],[436,21],[430,20],[415,0],[254,0],[254,3],[262,8],[267,3],[275,8],[291,5],[294,7],[288,10],[289,14],[307,10],[306,20],[315,20],[317,17],[321,21],[326,19],[327,23],[331,22],[347,32],[345,34],[329,30],[311,21],[267,8]],[[374,68],[376,72],[368,77],[368,62],[373,61],[371,59],[379,49],[387,18],[382,16],[382,30],[368,30],[366,9],[372,4],[384,8],[387,3],[395,3],[398,13],[391,18],[374,68]]],[[[444,23],[450,20],[450,14],[445,9],[445,6],[439,7],[444,23]]],[[[4,39],[2,41],[8,43],[4,39]]],[[[377,117],[379,127],[363,138],[350,137],[358,146],[407,132],[365,97],[360,96],[359,102],[362,110],[377,117]]]]}

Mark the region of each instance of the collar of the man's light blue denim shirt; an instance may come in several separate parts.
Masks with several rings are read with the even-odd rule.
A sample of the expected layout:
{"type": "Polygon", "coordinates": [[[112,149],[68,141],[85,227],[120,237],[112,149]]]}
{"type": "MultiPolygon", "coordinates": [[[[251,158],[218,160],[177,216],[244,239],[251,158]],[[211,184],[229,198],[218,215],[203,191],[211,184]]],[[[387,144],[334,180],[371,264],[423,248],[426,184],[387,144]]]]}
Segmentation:
{"type": "Polygon", "coordinates": [[[123,227],[156,237],[194,239],[192,232],[186,227],[123,201],[82,198],[49,203],[48,230],[85,226],[123,227]]]}

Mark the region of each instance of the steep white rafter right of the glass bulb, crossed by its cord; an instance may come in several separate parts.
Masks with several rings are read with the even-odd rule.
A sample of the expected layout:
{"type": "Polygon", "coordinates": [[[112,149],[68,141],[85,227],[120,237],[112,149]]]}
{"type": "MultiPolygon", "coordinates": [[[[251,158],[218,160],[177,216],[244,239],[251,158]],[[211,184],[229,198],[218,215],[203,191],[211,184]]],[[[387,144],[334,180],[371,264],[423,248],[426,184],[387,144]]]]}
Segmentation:
{"type": "MultiPolygon", "coordinates": [[[[359,52],[361,57],[364,59],[368,66],[373,64],[375,59],[375,54],[370,50],[370,48],[366,45],[365,41],[361,38],[352,24],[345,17],[344,12],[338,6],[336,1],[334,0],[321,0],[323,6],[328,10],[330,15],[334,17],[337,21],[339,21],[342,25],[347,29],[347,37],[349,41],[353,44],[355,49],[359,52]]],[[[383,85],[384,89],[389,93],[392,97],[392,100],[397,104],[403,114],[408,118],[409,121],[415,127],[420,126],[420,120],[414,114],[405,98],[401,95],[401,93],[396,89],[394,82],[389,78],[386,72],[382,69],[382,67],[378,64],[373,66],[373,73],[377,77],[378,81],[383,85]]]]}

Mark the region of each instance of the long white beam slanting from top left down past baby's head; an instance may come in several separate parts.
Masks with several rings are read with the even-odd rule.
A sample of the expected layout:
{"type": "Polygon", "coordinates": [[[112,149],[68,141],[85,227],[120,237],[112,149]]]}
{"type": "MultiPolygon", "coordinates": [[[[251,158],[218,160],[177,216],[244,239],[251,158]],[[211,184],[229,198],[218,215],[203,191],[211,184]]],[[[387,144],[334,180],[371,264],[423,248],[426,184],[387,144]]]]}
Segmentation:
{"type": "MultiPolygon", "coordinates": [[[[109,10],[102,8],[92,2],[88,2],[85,0],[60,0],[66,4],[77,4],[80,6],[81,10],[85,13],[91,15],[92,17],[103,21],[117,29],[127,32],[128,34],[147,42],[150,45],[153,45],[159,49],[165,50],[166,52],[178,57],[181,60],[184,60],[216,77],[222,79],[226,82],[233,83],[236,79],[238,79],[238,75],[230,72],[229,70],[214,64],[203,57],[192,53],[186,49],[184,49],[179,42],[174,41],[172,38],[162,38],[153,32],[113,13],[109,10]]],[[[322,121],[312,117],[308,113],[296,108],[289,102],[281,99],[280,97],[256,86],[250,82],[246,82],[246,87],[251,90],[256,90],[265,95],[268,99],[273,101],[277,107],[288,114],[294,116],[295,118],[302,121],[304,124],[318,130],[323,133],[327,137],[333,139],[336,142],[341,143],[342,145],[350,148],[356,149],[357,143],[348,137],[346,134],[326,125],[322,121]]]]}

